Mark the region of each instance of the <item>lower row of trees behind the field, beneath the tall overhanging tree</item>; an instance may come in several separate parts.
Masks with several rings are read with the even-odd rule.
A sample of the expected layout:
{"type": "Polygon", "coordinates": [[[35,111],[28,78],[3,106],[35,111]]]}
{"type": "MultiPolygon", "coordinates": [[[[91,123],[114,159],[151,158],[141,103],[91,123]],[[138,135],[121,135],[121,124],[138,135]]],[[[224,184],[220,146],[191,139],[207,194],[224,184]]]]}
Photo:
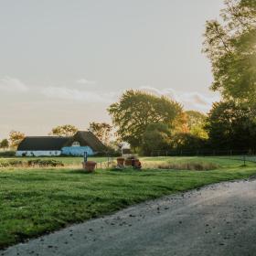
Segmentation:
{"type": "Polygon", "coordinates": [[[206,115],[165,97],[126,91],[109,112],[118,140],[143,155],[256,149],[256,108],[245,103],[216,102],[206,115]]]}

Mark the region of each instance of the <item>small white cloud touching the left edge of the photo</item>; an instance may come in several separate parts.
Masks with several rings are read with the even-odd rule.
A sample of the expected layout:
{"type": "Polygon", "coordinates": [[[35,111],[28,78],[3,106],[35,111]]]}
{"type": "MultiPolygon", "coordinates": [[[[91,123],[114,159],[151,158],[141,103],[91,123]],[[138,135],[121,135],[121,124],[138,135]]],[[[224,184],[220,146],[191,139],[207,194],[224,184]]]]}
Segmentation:
{"type": "Polygon", "coordinates": [[[25,92],[28,91],[28,87],[20,80],[6,77],[4,79],[0,79],[0,91],[25,92]]]}

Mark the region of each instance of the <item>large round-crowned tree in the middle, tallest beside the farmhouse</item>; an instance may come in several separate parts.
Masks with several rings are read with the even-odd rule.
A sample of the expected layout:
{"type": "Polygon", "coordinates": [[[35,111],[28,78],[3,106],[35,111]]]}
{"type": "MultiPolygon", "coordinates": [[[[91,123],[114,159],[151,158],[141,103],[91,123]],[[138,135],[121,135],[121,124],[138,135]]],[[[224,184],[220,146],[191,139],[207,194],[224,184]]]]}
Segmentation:
{"type": "Polygon", "coordinates": [[[143,142],[143,135],[150,123],[172,124],[182,107],[176,101],[162,96],[156,97],[144,91],[125,91],[119,102],[109,109],[112,123],[120,138],[133,148],[143,142]]]}

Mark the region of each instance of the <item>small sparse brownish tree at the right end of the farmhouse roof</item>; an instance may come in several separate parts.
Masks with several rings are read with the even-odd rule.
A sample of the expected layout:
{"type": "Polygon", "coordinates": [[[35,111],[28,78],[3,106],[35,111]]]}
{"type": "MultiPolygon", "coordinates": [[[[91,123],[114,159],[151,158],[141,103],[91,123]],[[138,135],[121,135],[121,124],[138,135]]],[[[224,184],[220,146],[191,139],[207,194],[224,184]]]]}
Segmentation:
{"type": "Polygon", "coordinates": [[[112,126],[109,123],[90,123],[89,130],[96,135],[103,144],[109,144],[112,132],[112,126]]]}

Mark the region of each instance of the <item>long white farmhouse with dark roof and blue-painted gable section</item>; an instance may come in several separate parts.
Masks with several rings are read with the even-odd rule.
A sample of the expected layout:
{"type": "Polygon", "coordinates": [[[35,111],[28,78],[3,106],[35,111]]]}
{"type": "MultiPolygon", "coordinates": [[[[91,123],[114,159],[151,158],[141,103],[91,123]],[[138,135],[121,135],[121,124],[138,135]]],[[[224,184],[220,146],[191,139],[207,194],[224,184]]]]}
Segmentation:
{"type": "Polygon", "coordinates": [[[17,156],[95,155],[106,146],[91,132],[78,132],[72,137],[26,137],[17,147],[17,156]]]}

